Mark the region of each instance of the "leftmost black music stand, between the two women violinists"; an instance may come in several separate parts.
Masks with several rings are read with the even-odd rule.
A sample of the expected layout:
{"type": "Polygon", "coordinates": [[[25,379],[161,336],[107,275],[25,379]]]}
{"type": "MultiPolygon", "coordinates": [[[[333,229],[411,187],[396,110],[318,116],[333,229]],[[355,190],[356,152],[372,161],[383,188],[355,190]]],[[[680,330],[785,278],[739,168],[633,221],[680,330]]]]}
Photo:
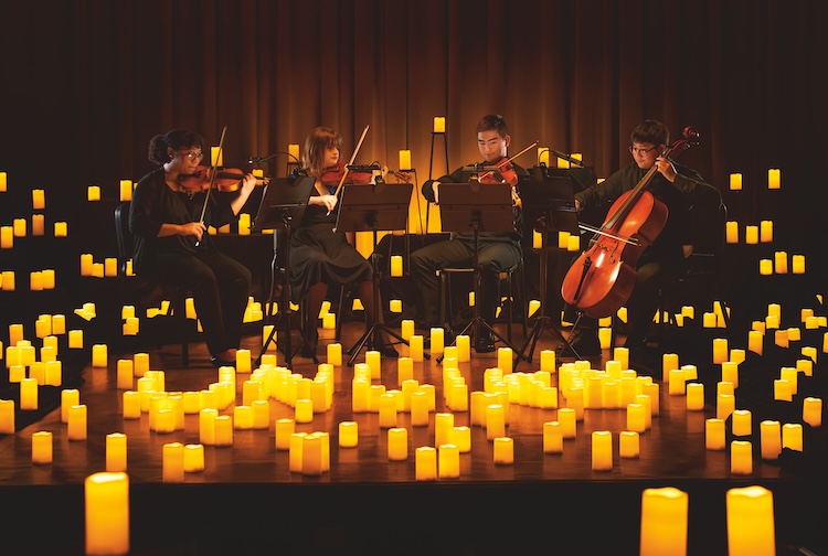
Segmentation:
{"type": "MultiPolygon", "coordinates": [[[[270,261],[270,293],[269,301],[273,307],[274,301],[274,288],[276,285],[276,268],[278,266],[277,259],[279,248],[285,253],[285,285],[282,288],[279,295],[279,319],[277,324],[270,330],[270,334],[267,336],[262,351],[256,357],[256,364],[262,363],[262,355],[267,351],[267,346],[273,341],[273,336],[279,329],[279,324],[285,325],[285,366],[290,368],[290,363],[294,355],[301,349],[302,345],[308,345],[311,350],[315,348],[305,338],[302,327],[297,327],[299,330],[299,336],[301,342],[296,351],[291,348],[290,332],[291,332],[291,320],[293,311],[290,310],[290,231],[294,223],[301,222],[301,217],[305,214],[305,209],[308,206],[308,199],[310,197],[310,191],[314,189],[316,178],[302,175],[296,180],[289,178],[275,178],[269,181],[265,186],[265,191],[262,193],[262,202],[258,206],[258,213],[253,221],[251,231],[261,232],[263,229],[274,229],[273,234],[273,260],[270,261]],[[282,231],[282,234],[279,233],[282,231]],[[284,236],[282,246],[279,245],[279,235],[284,236]]],[[[269,321],[270,313],[267,314],[269,321]]],[[[314,363],[319,363],[319,360],[314,354],[314,363]]]]}

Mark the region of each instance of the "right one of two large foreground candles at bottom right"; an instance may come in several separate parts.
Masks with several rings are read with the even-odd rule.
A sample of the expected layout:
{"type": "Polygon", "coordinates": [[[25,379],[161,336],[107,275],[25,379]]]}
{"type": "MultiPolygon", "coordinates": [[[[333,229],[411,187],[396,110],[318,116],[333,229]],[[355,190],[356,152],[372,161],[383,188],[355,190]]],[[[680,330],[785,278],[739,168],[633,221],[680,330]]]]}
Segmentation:
{"type": "Polygon", "coordinates": [[[729,556],[775,556],[773,493],[764,487],[726,493],[729,556]]]}

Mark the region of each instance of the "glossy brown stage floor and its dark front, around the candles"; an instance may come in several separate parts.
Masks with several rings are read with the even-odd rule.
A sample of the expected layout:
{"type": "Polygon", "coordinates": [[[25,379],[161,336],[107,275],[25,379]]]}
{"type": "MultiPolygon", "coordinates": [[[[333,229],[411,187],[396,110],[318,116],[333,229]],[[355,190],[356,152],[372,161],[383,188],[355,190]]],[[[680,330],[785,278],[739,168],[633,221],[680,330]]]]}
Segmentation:
{"type": "MultiPolygon", "coordinates": [[[[506,335],[505,328],[498,330],[506,335]]],[[[519,352],[524,339],[520,325],[513,330],[512,345],[519,352]]],[[[355,322],[344,324],[343,351],[362,331],[355,322]]],[[[326,345],[336,341],[332,331],[320,332],[317,353],[323,363],[326,345]]],[[[519,361],[513,372],[539,371],[541,351],[558,344],[556,335],[544,331],[532,361],[519,361]]],[[[244,340],[254,367],[261,345],[258,333],[244,340]]],[[[407,353],[407,346],[399,350],[407,353]]],[[[168,393],[199,392],[217,382],[219,372],[202,342],[190,345],[187,367],[181,365],[179,345],[140,352],[149,353],[150,370],[164,372],[168,393]]],[[[88,411],[86,440],[68,439],[60,409],[0,438],[0,495],[7,515],[11,514],[0,526],[4,530],[0,546],[6,544],[11,553],[83,554],[83,482],[106,469],[106,436],[121,432],[128,446],[132,554],[637,554],[641,493],[661,487],[689,494],[688,554],[728,554],[726,491],[753,484],[774,494],[777,554],[807,554],[797,552],[802,547],[816,554],[826,549],[820,530],[828,516],[821,505],[828,490],[824,469],[754,457],[752,473],[731,473],[728,451],[705,448],[705,420],[715,416],[712,404],[688,410],[686,396],[660,387],[659,411],[651,428],[639,435],[638,457],[622,458],[619,434],[628,429],[626,409],[584,409],[575,437],[563,441],[562,452],[544,453],[544,424],[558,420],[559,410],[510,403],[506,434],[512,439],[514,462],[496,464],[493,441],[484,427],[471,423],[471,411],[446,407],[444,370],[436,354],[413,363],[413,378],[434,386],[436,406],[428,425],[412,426],[410,413],[396,416],[396,427],[407,430],[408,457],[403,461],[389,460],[389,427],[380,426],[379,413],[353,411],[354,367],[343,364],[333,368],[330,409],[315,414],[311,423],[295,425],[297,432],[329,435],[329,471],[308,475],[289,470],[289,452],[276,448],[275,421],[293,419],[295,409],[270,398],[267,428],[235,429],[232,446],[204,447],[203,471],[184,473],[183,482],[164,483],[164,445],[199,443],[200,417],[185,415],[183,428],[167,434],[151,430],[147,413],[125,419],[116,367],[119,359],[134,354],[109,353],[106,367],[83,370],[77,389],[88,411]],[[450,415],[455,427],[470,429],[470,450],[459,455],[459,477],[418,481],[415,451],[435,447],[437,414],[450,415]],[[357,423],[357,447],[339,447],[342,421],[357,423]],[[613,466],[594,471],[592,432],[603,430],[612,432],[613,466]],[[53,435],[52,463],[32,463],[32,435],[38,431],[53,435]]],[[[709,359],[697,355],[699,361],[681,364],[709,359]]],[[[592,367],[603,370],[611,357],[604,350],[592,367]]],[[[348,359],[343,353],[343,361],[348,359]]],[[[364,359],[362,351],[355,362],[364,359]]],[[[651,363],[659,360],[658,352],[651,354],[651,363]]],[[[558,364],[572,361],[559,359],[558,364]]],[[[383,359],[381,378],[372,384],[400,389],[397,363],[383,359]]],[[[284,354],[278,353],[277,364],[284,364],[284,354]]],[[[473,350],[470,361],[458,364],[468,392],[484,391],[486,371],[497,365],[498,352],[473,350]]],[[[633,362],[630,368],[635,366],[633,362]]],[[[661,370],[655,367],[654,363],[636,371],[655,375],[660,383],[661,370]]],[[[310,359],[295,356],[291,371],[312,378],[318,367],[310,359]]],[[[552,386],[558,386],[560,376],[550,375],[552,386]]],[[[235,404],[242,404],[250,378],[236,375],[235,404]]],[[[565,407],[561,392],[558,396],[559,407],[565,407]]],[[[233,415],[233,405],[220,414],[233,415]]],[[[806,442],[810,438],[806,436],[806,442]]],[[[758,445],[758,438],[747,439],[758,445]]],[[[805,450],[809,449],[806,443],[805,450]]]]}

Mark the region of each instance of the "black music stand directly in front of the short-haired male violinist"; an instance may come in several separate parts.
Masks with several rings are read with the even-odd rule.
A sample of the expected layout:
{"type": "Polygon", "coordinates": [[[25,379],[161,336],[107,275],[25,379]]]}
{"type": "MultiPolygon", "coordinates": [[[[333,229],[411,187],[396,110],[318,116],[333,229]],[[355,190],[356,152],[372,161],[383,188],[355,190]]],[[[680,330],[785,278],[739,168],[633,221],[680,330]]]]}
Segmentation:
{"type": "MultiPolygon", "coordinates": [[[[438,194],[443,229],[446,232],[468,232],[470,227],[475,234],[474,318],[458,335],[465,335],[470,329],[473,345],[476,345],[479,338],[479,327],[484,327],[498,340],[511,348],[512,352],[517,352],[517,349],[509,341],[480,317],[480,232],[514,232],[511,190],[506,185],[499,186],[497,184],[487,184],[481,188],[480,183],[473,179],[467,183],[440,183],[438,194]],[[485,189],[482,194],[481,189],[485,189]]],[[[457,336],[450,345],[454,345],[456,341],[457,336]]],[[[437,357],[437,363],[443,361],[443,355],[440,354],[437,357]]]]}

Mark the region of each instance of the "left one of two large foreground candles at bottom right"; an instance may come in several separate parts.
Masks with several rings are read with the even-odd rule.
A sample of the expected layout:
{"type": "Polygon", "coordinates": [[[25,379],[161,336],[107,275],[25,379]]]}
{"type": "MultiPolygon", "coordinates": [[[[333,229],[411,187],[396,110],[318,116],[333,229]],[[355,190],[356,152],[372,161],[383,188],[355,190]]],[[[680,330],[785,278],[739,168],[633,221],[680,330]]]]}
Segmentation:
{"type": "Polygon", "coordinates": [[[687,554],[688,506],[687,492],[673,487],[644,490],[639,556],[687,554]]]}

